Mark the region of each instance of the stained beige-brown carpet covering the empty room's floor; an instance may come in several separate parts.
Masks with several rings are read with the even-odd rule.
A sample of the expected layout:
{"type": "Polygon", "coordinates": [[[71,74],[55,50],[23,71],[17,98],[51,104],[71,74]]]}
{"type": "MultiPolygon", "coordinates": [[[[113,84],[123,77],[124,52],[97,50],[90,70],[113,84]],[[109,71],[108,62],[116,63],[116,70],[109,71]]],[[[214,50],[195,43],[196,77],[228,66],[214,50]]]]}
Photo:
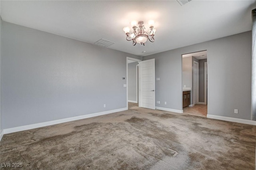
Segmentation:
{"type": "Polygon", "coordinates": [[[0,163],[24,170],[254,170],[256,127],[134,105],[5,134],[0,144],[0,163]]]}

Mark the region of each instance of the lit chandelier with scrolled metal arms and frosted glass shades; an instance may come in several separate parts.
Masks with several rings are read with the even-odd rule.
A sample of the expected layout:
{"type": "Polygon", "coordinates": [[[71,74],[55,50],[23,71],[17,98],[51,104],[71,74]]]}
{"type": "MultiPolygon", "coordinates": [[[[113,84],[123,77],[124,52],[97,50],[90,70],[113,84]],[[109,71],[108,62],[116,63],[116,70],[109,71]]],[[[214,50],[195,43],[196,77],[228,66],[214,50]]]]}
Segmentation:
{"type": "Polygon", "coordinates": [[[133,28],[133,33],[130,34],[130,28],[129,27],[124,27],[123,30],[126,34],[126,40],[131,41],[132,40],[132,45],[136,45],[136,43],[140,43],[141,45],[145,45],[145,43],[147,42],[147,40],[149,40],[150,42],[154,42],[154,34],[156,32],[156,29],[154,28],[154,21],[153,20],[149,20],[148,21],[148,25],[149,25],[149,34],[147,32],[145,32],[145,27],[144,27],[144,22],[143,21],[139,21],[138,22],[138,26],[136,21],[132,21],[131,25],[133,28]]]}

